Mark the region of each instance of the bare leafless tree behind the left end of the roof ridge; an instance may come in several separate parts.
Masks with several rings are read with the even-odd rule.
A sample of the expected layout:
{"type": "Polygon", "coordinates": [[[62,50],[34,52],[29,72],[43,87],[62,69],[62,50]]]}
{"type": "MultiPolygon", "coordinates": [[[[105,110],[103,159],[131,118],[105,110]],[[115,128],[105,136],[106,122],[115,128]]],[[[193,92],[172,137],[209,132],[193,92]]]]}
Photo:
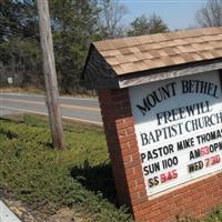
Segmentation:
{"type": "Polygon", "coordinates": [[[128,13],[127,7],[117,0],[101,0],[99,20],[103,38],[122,37],[124,27],[121,24],[121,20],[128,13]]]}

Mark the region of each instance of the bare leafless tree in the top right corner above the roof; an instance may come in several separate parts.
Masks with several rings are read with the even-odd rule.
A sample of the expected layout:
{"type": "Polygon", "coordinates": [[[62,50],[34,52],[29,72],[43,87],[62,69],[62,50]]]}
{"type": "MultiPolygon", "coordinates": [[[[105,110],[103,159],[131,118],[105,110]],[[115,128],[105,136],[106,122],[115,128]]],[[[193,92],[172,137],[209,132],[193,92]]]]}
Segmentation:
{"type": "Polygon", "coordinates": [[[195,19],[201,27],[222,27],[222,0],[209,0],[195,19]]]}

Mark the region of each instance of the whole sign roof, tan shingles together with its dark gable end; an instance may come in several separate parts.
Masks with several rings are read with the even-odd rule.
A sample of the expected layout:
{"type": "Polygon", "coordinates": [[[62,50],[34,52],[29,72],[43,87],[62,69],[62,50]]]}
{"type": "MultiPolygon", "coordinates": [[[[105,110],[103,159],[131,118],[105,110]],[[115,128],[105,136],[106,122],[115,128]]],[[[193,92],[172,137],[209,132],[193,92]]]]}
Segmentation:
{"type": "MultiPolygon", "coordinates": [[[[151,70],[158,73],[163,68],[215,59],[222,59],[222,27],[93,42],[83,75],[87,81],[103,78],[104,87],[109,80],[137,79],[141,73],[152,74],[151,70]]],[[[111,88],[119,87],[120,82],[115,81],[111,88]]]]}

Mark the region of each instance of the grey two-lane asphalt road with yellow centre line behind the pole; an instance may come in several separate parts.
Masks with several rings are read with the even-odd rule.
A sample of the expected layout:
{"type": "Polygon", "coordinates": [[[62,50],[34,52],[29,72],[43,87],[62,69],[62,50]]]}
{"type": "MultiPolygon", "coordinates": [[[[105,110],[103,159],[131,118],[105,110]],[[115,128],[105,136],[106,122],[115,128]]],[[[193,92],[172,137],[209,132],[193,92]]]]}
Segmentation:
{"type": "MultiPolygon", "coordinates": [[[[60,97],[62,118],[102,124],[99,102],[97,99],[60,97]]],[[[27,93],[0,93],[0,115],[14,112],[48,114],[43,95],[27,93]]]]}

